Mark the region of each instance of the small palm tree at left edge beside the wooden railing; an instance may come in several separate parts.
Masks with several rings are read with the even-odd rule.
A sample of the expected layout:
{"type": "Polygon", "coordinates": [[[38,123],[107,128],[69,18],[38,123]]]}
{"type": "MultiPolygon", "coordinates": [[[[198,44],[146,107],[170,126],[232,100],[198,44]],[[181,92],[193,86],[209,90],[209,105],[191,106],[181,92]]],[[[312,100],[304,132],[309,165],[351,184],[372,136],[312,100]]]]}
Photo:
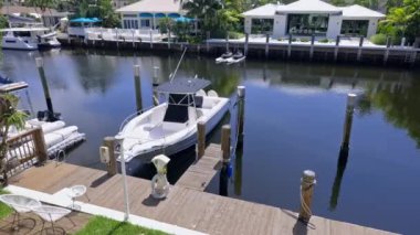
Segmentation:
{"type": "Polygon", "coordinates": [[[7,158],[8,152],[8,133],[11,126],[17,129],[24,127],[27,114],[18,110],[19,98],[11,94],[0,96],[0,183],[7,185],[7,158]]]}

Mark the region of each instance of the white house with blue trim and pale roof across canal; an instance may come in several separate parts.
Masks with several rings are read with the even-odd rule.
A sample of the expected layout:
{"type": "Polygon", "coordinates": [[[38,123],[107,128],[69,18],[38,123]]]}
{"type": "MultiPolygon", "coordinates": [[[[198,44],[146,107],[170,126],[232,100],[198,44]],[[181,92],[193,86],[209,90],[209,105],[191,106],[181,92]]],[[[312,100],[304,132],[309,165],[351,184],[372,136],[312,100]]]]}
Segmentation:
{"type": "Polygon", "coordinates": [[[141,0],[117,10],[124,29],[157,29],[162,18],[183,15],[181,0],[141,0]]]}

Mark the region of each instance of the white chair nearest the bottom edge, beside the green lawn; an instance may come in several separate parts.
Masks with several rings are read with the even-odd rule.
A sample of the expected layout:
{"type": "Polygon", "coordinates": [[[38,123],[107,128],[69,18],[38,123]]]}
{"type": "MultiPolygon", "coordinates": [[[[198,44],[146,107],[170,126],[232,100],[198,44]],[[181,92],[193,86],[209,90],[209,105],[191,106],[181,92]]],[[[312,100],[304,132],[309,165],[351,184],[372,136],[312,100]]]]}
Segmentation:
{"type": "Polygon", "coordinates": [[[72,213],[72,211],[69,209],[52,205],[41,205],[40,207],[33,209],[33,213],[35,213],[42,220],[42,228],[40,231],[40,234],[42,234],[42,232],[46,231],[48,228],[52,228],[53,234],[55,234],[55,229],[62,231],[63,234],[66,234],[63,227],[54,226],[54,223],[63,217],[66,217],[70,222],[72,222],[73,226],[76,226],[74,222],[67,217],[67,215],[72,213]],[[51,227],[45,227],[45,224],[49,222],[51,223],[51,227]]]}

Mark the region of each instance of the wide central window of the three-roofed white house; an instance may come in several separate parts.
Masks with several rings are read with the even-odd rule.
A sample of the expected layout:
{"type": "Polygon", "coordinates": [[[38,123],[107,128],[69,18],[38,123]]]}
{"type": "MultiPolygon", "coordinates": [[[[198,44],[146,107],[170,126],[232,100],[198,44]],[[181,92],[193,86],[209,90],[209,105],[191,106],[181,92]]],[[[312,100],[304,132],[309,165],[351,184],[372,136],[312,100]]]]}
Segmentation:
{"type": "Polygon", "coordinates": [[[287,32],[297,35],[325,35],[328,20],[328,14],[288,14],[287,32]]]}

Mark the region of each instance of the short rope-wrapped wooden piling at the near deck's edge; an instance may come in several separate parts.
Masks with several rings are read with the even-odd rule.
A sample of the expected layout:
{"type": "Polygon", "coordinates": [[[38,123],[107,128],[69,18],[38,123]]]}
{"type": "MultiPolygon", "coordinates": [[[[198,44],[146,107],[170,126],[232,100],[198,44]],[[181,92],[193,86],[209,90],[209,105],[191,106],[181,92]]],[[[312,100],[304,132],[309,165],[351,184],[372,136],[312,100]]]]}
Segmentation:
{"type": "Polygon", "coordinates": [[[312,216],[311,205],[315,183],[315,172],[305,170],[301,179],[301,209],[298,213],[298,220],[304,223],[308,223],[312,216]]]}

